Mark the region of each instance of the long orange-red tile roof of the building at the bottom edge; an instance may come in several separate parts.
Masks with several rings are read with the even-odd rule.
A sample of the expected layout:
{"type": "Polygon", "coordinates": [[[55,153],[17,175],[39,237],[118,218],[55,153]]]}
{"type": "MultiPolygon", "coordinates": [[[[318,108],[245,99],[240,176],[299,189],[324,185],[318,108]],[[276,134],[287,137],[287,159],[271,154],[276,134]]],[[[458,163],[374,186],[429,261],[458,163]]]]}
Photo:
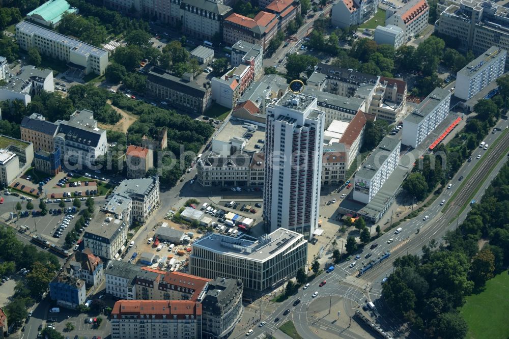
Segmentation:
{"type": "MultiPolygon", "coordinates": [[[[119,300],[113,306],[111,315],[202,315],[202,305],[191,300],[119,300]]],[[[159,317],[158,317],[159,316],[159,317]]],[[[139,319],[139,318],[138,318],[139,319]]],[[[183,319],[183,318],[179,318],[183,319]]]]}

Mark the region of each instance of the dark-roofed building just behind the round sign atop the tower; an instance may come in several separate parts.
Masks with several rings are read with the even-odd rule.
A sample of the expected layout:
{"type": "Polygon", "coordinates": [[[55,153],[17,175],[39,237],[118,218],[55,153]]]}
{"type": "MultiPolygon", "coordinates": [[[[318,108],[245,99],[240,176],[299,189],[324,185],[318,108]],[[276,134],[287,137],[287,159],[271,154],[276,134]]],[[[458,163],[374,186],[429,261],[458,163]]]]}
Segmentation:
{"type": "Polygon", "coordinates": [[[378,76],[324,63],[318,63],[315,72],[324,75],[319,90],[342,97],[354,96],[362,84],[375,85],[378,82],[378,76]]]}

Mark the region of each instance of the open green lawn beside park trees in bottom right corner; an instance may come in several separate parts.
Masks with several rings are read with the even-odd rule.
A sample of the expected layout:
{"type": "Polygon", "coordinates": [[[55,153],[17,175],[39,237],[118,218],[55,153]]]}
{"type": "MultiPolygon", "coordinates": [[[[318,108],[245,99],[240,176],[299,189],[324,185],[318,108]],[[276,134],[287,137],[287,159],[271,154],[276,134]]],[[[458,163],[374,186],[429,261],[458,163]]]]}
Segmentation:
{"type": "Polygon", "coordinates": [[[468,323],[467,338],[507,338],[509,333],[508,295],[509,271],[504,271],[487,281],[485,291],[466,298],[460,313],[468,323]]]}

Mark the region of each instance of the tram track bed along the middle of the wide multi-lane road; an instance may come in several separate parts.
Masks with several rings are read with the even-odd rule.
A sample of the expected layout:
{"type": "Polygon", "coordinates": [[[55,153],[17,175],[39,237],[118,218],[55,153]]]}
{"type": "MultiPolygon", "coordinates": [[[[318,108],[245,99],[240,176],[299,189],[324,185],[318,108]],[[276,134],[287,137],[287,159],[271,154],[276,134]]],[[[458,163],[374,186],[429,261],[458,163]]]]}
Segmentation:
{"type": "Polygon", "coordinates": [[[472,194],[473,189],[480,181],[486,178],[491,167],[497,162],[500,155],[507,152],[508,148],[509,133],[506,133],[497,144],[496,149],[488,155],[482,165],[480,165],[475,173],[470,177],[469,181],[462,186],[460,193],[455,197],[454,201],[449,204],[449,208],[436,220],[434,224],[423,228],[419,232],[418,237],[409,238],[409,240],[398,246],[398,248],[391,250],[391,256],[385,262],[382,262],[370,271],[367,271],[360,278],[366,281],[376,279],[381,272],[387,270],[387,268],[392,265],[394,260],[406,255],[407,252],[414,253],[415,250],[420,250],[422,245],[428,243],[432,239],[435,239],[437,234],[442,231],[444,227],[447,227],[449,221],[453,220],[461,208],[468,203],[468,199],[472,194]]]}

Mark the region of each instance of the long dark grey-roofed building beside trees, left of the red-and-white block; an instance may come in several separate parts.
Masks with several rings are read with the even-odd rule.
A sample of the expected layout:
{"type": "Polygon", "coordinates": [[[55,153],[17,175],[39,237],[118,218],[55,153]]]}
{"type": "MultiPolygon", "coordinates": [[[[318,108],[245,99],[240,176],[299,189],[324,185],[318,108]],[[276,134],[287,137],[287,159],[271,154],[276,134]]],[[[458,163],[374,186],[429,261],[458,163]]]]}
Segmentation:
{"type": "Polygon", "coordinates": [[[190,73],[178,78],[167,70],[155,67],[147,76],[146,93],[180,111],[193,114],[202,115],[212,105],[210,89],[194,82],[190,73]]]}

